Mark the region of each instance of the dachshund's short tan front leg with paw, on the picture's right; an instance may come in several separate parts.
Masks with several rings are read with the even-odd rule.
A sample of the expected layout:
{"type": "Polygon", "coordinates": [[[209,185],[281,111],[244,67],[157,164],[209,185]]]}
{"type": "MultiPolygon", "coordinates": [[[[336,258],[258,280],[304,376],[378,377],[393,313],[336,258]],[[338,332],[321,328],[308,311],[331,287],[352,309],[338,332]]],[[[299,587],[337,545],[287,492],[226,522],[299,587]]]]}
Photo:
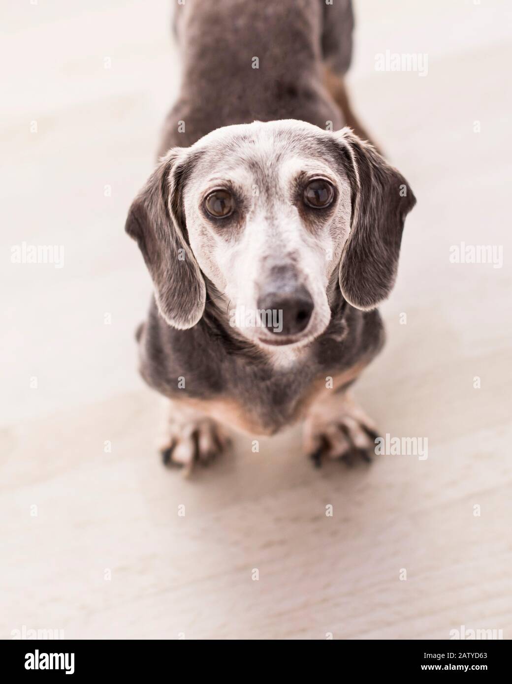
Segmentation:
{"type": "Polygon", "coordinates": [[[316,467],[322,458],[351,465],[370,463],[378,437],[375,423],[346,392],[327,390],[310,406],[304,424],[305,447],[316,467]]]}

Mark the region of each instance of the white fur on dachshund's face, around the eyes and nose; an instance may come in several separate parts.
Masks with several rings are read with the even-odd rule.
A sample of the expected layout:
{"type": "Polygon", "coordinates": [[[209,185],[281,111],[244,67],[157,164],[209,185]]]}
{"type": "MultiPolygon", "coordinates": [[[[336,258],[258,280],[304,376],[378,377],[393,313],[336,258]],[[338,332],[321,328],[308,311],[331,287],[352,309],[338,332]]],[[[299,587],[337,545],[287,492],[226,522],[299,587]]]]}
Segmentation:
{"type": "Polygon", "coordinates": [[[235,327],[259,345],[272,335],[258,327],[256,313],[258,293],[272,267],[290,265],[313,299],[313,314],[292,340],[294,347],[318,337],[331,317],[327,285],[350,231],[350,185],[340,166],[322,158],[322,146],[315,149],[311,133],[319,142],[333,135],[303,122],[255,122],[218,129],[193,146],[202,148],[204,157],[184,192],[190,246],[203,273],[230,302],[235,327]],[[301,215],[296,195],[298,179],[304,177],[322,177],[335,186],[332,211],[313,210],[312,220],[301,215]],[[235,225],[212,223],[202,210],[205,195],[223,186],[234,187],[243,198],[235,225]]]}

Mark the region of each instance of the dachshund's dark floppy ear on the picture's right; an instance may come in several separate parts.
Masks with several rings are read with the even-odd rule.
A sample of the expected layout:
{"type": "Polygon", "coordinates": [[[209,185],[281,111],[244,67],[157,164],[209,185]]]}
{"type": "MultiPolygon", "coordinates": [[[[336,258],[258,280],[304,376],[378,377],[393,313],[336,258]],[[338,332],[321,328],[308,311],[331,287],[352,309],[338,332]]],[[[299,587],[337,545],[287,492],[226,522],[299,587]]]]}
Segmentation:
{"type": "Polygon", "coordinates": [[[337,132],[352,190],[350,235],[340,261],[340,288],[363,310],[387,298],[396,279],[407,213],[416,203],[405,178],[350,129],[337,132]]]}

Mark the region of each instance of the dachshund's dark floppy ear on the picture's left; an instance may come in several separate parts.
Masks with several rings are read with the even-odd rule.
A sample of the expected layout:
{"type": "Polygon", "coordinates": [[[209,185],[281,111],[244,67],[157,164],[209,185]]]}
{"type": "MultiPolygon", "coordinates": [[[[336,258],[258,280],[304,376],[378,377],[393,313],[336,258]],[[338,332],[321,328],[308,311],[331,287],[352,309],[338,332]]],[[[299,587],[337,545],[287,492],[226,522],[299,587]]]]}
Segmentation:
{"type": "Polygon", "coordinates": [[[138,242],[155,285],[158,310],[173,328],[186,330],[201,319],[206,288],[188,244],[183,185],[194,155],[170,150],[133,200],[125,230],[138,242]]]}

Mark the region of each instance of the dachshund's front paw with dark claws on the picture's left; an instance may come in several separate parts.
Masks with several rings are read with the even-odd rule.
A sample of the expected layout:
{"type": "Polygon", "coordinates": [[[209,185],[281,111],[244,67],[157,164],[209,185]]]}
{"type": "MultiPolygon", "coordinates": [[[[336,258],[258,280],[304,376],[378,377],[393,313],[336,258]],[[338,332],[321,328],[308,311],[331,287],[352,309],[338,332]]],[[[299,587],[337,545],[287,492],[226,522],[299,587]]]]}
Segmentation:
{"type": "Polygon", "coordinates": [[[160,447],[162,462],[166,466],[182,468],[185,475],[196,464],[207,466],[230,444],[220,425],[209,418],[170,420],[166,432],[160,447]]]}

